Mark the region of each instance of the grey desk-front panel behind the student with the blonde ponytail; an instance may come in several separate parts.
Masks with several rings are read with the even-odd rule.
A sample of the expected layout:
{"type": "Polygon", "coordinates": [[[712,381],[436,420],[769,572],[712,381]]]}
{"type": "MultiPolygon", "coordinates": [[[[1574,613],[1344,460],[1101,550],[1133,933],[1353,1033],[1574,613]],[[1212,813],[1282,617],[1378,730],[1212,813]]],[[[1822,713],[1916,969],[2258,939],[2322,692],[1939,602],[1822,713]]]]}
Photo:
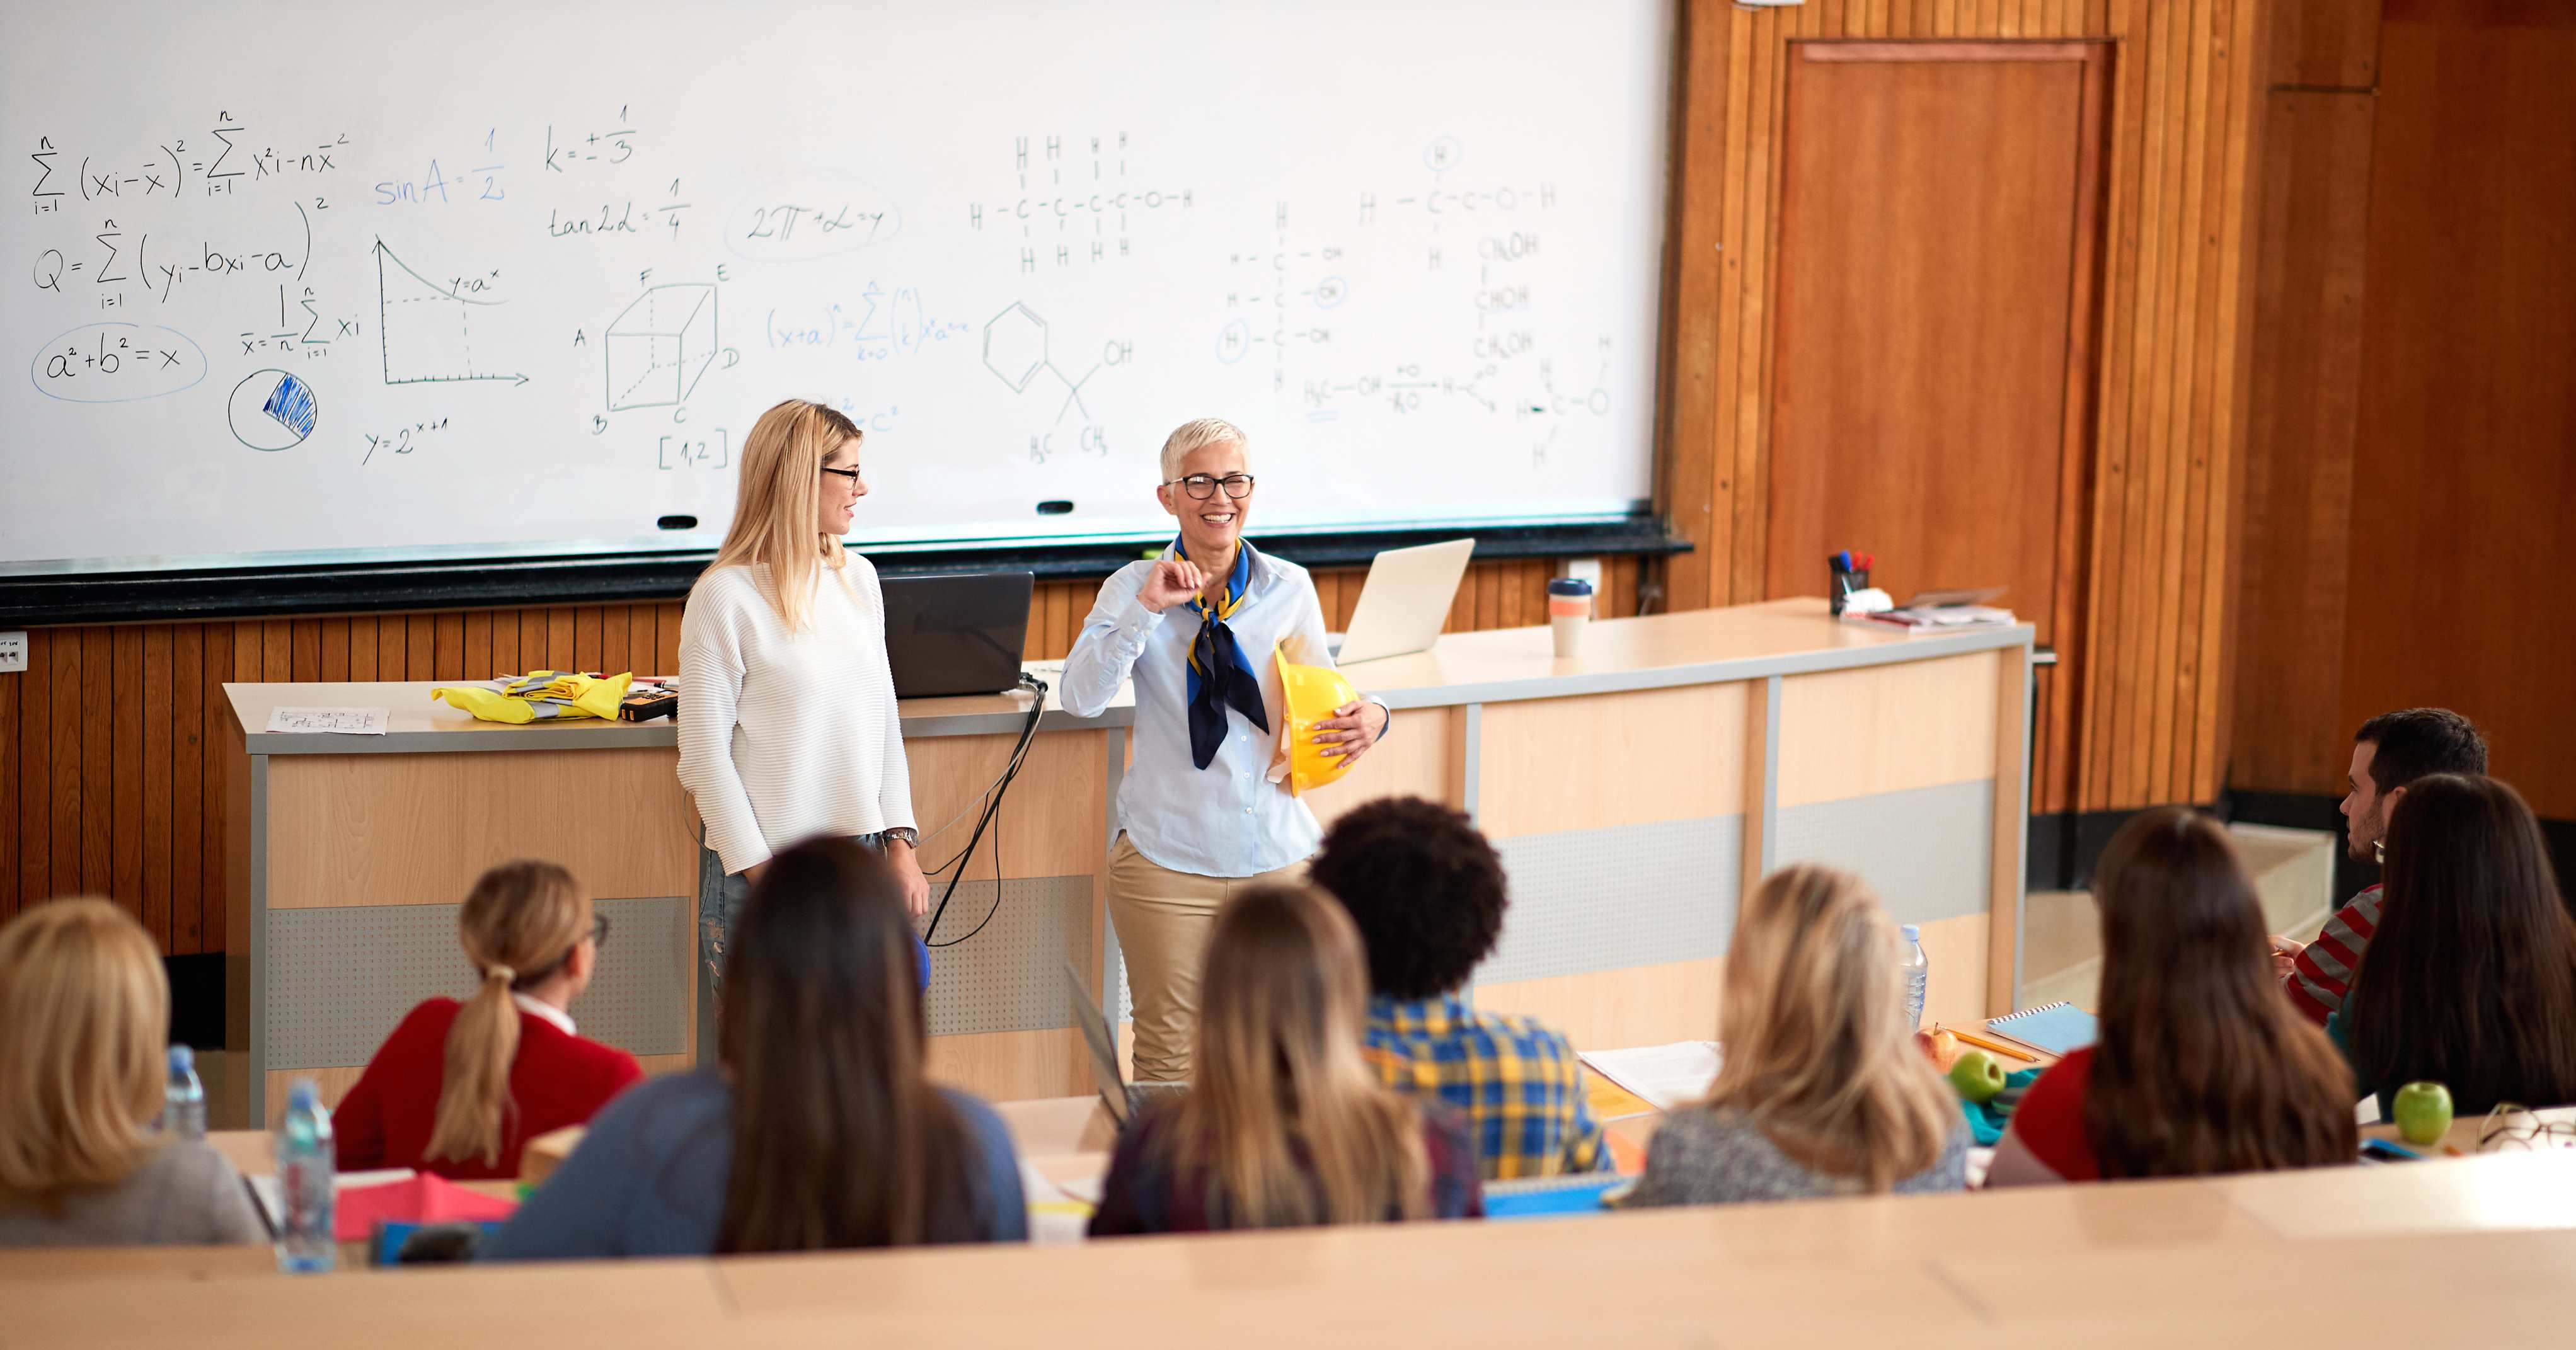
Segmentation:
{"type": "MultiPolygon", "coordinates": [[[[572,1000],[582,1036],[629,1054],[688,1051],[693,899],[600,899],[608,946],[572,1000]]],[[[466,997],[474,971],[456,904],[353,904],[268,912],[268,1069],[366,1064],[428,997],[466,997]]]]}

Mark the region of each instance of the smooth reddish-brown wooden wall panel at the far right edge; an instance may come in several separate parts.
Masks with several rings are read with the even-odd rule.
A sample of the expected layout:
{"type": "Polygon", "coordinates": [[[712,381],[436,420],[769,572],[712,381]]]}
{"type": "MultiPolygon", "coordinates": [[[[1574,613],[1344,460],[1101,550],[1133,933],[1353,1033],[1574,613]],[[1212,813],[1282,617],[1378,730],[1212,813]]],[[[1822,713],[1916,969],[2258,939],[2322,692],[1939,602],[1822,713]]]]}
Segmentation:
{"type": "Polygon", "coordinates": [[[2442,703],[2576,817],[2576,5],[2391,0],[2370,157],[2342,721],[2442,703]]]}

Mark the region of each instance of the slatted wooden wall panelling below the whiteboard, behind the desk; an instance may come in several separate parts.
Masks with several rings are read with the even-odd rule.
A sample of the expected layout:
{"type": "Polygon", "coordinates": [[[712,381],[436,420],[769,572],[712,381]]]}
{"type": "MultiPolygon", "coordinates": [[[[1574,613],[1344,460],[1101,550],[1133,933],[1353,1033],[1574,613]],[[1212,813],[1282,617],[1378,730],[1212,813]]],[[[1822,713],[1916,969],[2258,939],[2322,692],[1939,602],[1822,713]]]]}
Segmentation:
{"type": "MultiPolygon", "coordinates": [[[[1450,629],[1538,623],[1556,564],[1473,567],[1450,629]]],[[[1638,605],[1636,559],[1605,559],[1600,613],[1638,605]]],[[[1363,569],[1316,572],[1334,626],[1363,569]]],[[[1043,582],[1028,657],[1061,660],[1100,582],[1043,582]]],[[[0,675],[0,922],[67,894],[124,904],[173,956],[224,951],[224,683],[482,680],[520,670],[680,667],[680,600],[33,629],[0,675]]]]}

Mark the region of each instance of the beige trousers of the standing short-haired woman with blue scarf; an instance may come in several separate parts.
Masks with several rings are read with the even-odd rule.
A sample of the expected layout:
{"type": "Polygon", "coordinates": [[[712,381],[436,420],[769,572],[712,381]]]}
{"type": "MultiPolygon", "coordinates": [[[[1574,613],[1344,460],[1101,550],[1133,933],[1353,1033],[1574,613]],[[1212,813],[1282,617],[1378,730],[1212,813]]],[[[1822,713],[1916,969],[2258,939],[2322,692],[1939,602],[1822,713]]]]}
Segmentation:
{"type": "Polygon", "coordinates": [[[1306,863],[1260,876],[1198,876],[1172,871],[1118,835],[1110,848],[1110,922],[1128,964],[1136,1000],[1136,1082],[1190,1077],[1190,1038],[1198,1033],[1198,969],[1216,933],[1216,909],[1234,891],[1267,881],[1303,881],[1306,863]]]}

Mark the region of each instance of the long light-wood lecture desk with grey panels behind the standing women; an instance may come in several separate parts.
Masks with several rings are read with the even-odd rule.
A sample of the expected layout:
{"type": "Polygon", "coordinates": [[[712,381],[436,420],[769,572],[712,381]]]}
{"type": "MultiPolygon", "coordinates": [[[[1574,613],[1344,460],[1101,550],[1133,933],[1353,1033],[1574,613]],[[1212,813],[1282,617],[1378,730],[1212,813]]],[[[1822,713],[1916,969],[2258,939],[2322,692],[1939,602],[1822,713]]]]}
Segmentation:
{"type": "MultiPolygon", "coordinates": [[[[1046,667],[1041,667],[1046,672],[1046,667]]],[[[1579,660],[1548,629],[1448,634],[1350,667],[1396,714],[1327,819],[1419,794],[1476,817],[1512,873],[1476,1002],[1587,1046],[1713,1036],[1736,899],[1765,871],[1832,860],[1878,884],[1932,956],[1927,1015],[2012,1007],[2027,817],[2030,629],[1904,636],[1824,600],[1592,623],[1579,660]]],[[[479,724],[425,683],[224,685],[232,716],[229,1043],[270,1121],[286,1079],[337,1100],[399,1015],[466,989],[456,904],[507,858],[554,858],[611,920],[582,1031],[649,1072],[698,1051],[698,830],[667,721],[479,724]],[[265,732],[276,706],[386,706],[392,734],[265,732]]],[[[907,701],[925,853],[963,842],[1028,696],[907,701]],[[953,824],[940,832],[943,824],[953,824]]],[[[683,714],[685,716],[685,714],[683,714]]],[[[987,1098],[1092,1087],[1064,994],[1074,961],[1121,1015],[1100,873],[1133,706],[1092,719],[1048,698],[935,953],[933,1072],[987,1098]]],[[[935,884],[938,886],[938,884],[935,884]]]]}

